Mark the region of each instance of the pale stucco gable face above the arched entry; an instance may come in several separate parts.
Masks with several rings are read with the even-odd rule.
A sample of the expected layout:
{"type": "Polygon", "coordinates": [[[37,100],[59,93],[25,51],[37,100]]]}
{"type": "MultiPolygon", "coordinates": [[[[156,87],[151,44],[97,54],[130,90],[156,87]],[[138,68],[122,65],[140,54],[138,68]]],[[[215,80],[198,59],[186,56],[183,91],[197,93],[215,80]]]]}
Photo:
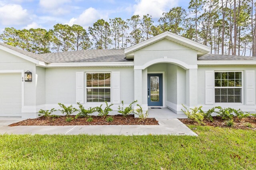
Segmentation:
{"type": "Polygon", "coordinates": [[[158,41],[148,47],[134,52],[134,65],[140,66],[154,59],[167,57],[177,59],[189,65],[197,64],[197,52],[188,47],[174,43],[167,39],[158,41]]]}

